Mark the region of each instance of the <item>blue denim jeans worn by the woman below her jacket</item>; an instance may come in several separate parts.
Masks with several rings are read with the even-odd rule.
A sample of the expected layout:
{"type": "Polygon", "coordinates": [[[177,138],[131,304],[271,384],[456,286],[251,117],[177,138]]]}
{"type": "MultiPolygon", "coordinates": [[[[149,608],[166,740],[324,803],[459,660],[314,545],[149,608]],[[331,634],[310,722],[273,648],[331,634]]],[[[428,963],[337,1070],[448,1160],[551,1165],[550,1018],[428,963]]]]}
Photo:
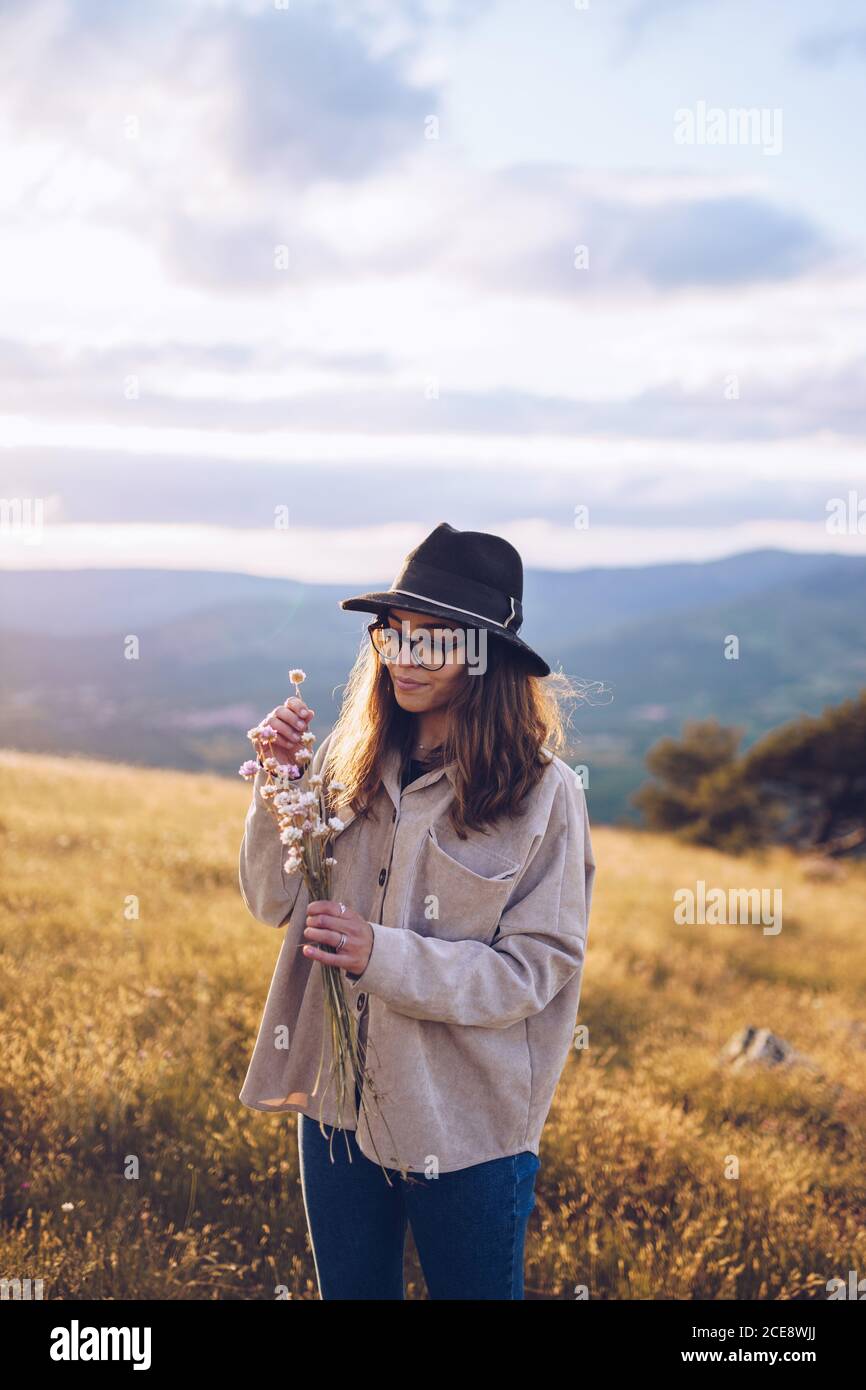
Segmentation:
{"type": "Polygon", "coordinates": [[[388,1169],[389,1187],[352,1130],[325,1125],[322,1134],[307,1115],[297,1116],[297,1152],[321,1298],[402,1300],[407,1222],[431,1298],[523,1298],[538,1155],[430,1179],[388,1169]]]}

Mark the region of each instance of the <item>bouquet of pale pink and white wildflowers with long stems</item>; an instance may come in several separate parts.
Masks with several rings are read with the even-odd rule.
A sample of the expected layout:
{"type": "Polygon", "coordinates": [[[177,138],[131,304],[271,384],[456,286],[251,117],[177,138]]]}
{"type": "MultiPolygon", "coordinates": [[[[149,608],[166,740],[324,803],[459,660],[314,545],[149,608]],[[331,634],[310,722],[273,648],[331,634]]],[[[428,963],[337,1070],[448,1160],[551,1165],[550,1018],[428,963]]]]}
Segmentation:
{"type": "MultiPolygon", "coordinates": [[[[299,685],[306,680],[306,673],[299,669],[293,669],[289,671],[289,680],[295,687],[295,694],[299,695],[299,685]]],[[[332,869],[336,865],[336,859],[331,853],[331,847],[334,837],[343,828],[343,821],[339,816],[331,815],[329,802],[332,799],[332,794],[345,791],[343,784],[331,781],[325,785],[325,780],[321,773],[310,773],[309,769],[304,771],[307,763],[311,762],[313,744],[316,742],[316,734],[311,734],[309,730],[300,735],[302,746],[295,753],[293,763],[281,763],[270,752],[271,745],[277,739],[277,730],[272,728],[271,724],[257,724],[254,728],[247,731],[246,737],[252,741],[256,752],[260,755],[261,763],[259,763],[257,759],[249,759],[242,763],[239,771],[247,781],[253,780],[259,766],[263,766],[267,771],[267,781],[261,787],[261,798],[267,802],[270,810],[272,812],[277,820],[279,838],[282,844],[286,845],[286,859],[284,862],[286,873],[300,873],[303,876],[309,890],[310,902],[331,898],[332,869]]],[[[322,944],[321,949],[335,954],[338,948],[322,944]]],[[[349,1008],[346,1001],[343,973],[342,970],[335,970],[328,966],[321,966],[321,969],[324,970],[322,992],[325,1016],[322,1049],[318,1062],[318,1073],[313,1086],[313,1094],[318,1090],[324,1068],[325,1038],[329,1037],[331,1074],[320,1102],[320,1127],[324,1133],[321,1105],[324,1105],[324,1098],[332,1081],[336,1087],[338,1129],[345,1129],[342,1120],[345,1115],[346,1098],[352,1095],[354,1086],[359,1088],[360,1104],[364,1113],[367,1113],[368,1095],[377,1105],[379,1115],[381,1105],[373,1079],[366,1072],[361,1058],[357,1019],[354,1016],[354,1011],[349,1008]]],[[[388,1129],[386,1122],[385,1127],[388,1129]]],[[[391,1130],[388,1130],[388,1133],[391,1133],[391,1130]]],[[[334,1138],[334,1136],[331,1136],[331,1138],[334,1138]]],[[[346,1148],[349,1150],[348,1138],[346,1148]]],[[[352,1161],[350,1151],[349,1161],[352,1161]]],[[[382,1165],[382,1168],[385,1170],[385,1177],[391,1182],[385,1165],[382,1165]]]]}

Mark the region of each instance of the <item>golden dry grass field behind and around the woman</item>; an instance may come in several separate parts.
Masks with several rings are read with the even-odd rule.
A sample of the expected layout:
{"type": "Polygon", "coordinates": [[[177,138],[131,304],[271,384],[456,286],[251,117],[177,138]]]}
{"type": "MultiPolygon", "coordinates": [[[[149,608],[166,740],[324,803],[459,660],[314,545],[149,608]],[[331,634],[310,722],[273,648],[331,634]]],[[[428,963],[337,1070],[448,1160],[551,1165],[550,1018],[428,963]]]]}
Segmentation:
{"type": "MultiPolygon", "coordinates": [[[[281,945],[238,891],[249,787],[11,752],[0,785],[0,1277],[316,1298],[295,1118],[238,1101],[281,945]]],[[[527,1297],[826,1298],[866,1276],[866,865],[816,881],[787,852],[602,827],[594,848],[589,1045],[544,1134],[527,1297]],[[698,878],[781,888],[781,933],[674,926],[698,878]],[[749,1023],[815,1068],[720,1063],[749,1023]]],[[[411,1247],[407,1290],[427,1297],[411,1247]]]]}

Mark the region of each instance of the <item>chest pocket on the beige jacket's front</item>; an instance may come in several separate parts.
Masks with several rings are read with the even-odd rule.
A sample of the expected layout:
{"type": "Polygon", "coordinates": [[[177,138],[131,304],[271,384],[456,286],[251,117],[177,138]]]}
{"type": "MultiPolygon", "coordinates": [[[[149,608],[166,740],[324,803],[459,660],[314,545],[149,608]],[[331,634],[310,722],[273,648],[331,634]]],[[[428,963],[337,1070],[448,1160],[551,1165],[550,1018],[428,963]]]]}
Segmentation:
{"type": "Polygon", "coordinates": [[[474,842],[464,852],[471,869],[442,849],[435,830],[428,830],[406,902],[407,930],[441,941],[492,944],[520,865],[474,842]]]}

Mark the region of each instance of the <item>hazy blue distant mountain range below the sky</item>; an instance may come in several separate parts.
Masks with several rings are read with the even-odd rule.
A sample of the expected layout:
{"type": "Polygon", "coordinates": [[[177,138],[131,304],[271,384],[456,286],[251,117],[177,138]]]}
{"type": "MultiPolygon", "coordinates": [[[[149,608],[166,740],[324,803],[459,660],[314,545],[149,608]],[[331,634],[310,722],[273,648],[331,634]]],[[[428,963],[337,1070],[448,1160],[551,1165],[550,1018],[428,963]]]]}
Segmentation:
{"type": "MultiPolygon", "coordinates": [[[[324,737],[367,641],[370,619],[338,606],[350,592],[231,573],[0,571],[0,744],[235,774],[295,664],[324,737]],[[138,660],[124,656],[131,635],[138,660]]],[[[684,719],[716,714],[748,745],[856,694],[865,599],[866,559],[838,555],[527,571],[521,635],[605,687],[575,708],[569,751],[589,769],[592,817],[632,817],[648,746],[684,719]]]]}

